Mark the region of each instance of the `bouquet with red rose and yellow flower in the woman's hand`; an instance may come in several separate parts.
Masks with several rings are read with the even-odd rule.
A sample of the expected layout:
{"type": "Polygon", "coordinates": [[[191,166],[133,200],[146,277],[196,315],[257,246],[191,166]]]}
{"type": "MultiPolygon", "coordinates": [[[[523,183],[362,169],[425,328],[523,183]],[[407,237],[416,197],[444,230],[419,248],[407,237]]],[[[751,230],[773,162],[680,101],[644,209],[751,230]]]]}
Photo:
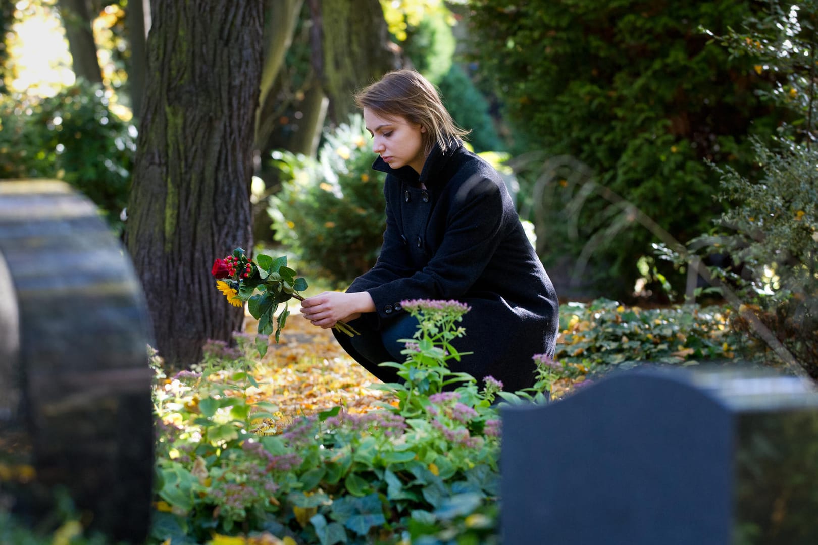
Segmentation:
{"type": "MultiPolygon", "coordinates": [[[[247,302],[250,315],[258,320],[259,335],[269,337],[275,328],[276,342],[290,315],[290,310],[285,305],[284,310],[276,317],[278,306],[293,297],[303,301],[299,292],[307,289],[307,280],[295,276],[295,271],[287,266],[286,256],[273,259],[259,254],[253,261],[245,255],[243,248],[236,248],[231,255],[213,261],[210,274],[216,279],[216,288],[227,297],[227,302],[233,306],[244,306],[247,302]]],[[[350,337],[357,334],[354,328],[344,322],[335,324],[335,329],[350,337]]],[[[259,356],[267,353],[264,337],[256,339],[259,356]]]]}

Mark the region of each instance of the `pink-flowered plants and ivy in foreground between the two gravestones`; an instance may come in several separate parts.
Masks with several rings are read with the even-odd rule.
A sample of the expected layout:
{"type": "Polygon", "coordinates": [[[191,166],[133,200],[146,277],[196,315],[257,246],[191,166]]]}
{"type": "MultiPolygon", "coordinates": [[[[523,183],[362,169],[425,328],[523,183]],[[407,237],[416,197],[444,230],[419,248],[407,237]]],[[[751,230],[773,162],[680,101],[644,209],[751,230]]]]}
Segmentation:
{"type": "Polygon", "coordinates": [[[299,543],[497,543],[501,385],[450,373],[468,307],[407,302],[420,324],[389,364],[403,384],[365,414],[340,407],[255,435],[281,418],[250,403],[247,356],[211,342],[199,369],[167,379],[155,366],[157,511],[151,543],[274,534],[299,543]],[[452,382],[454,381],[454,382],[452,382]],[[443,391],[444,386],[457,386],[443,391]],[[439,541],[435,541],[435,540],[439,541]]]}

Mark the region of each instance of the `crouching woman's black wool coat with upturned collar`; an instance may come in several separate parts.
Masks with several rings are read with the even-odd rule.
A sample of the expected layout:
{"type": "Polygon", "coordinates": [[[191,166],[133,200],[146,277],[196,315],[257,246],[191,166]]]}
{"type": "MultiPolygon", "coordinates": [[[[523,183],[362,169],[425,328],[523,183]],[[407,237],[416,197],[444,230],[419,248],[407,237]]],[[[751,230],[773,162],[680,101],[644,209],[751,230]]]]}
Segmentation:
{"type": "MultiPolygon", "coordinates": [[[[461,322],[465,337],[452,345],[472,354],[450,360],[450,369],[481,387],[487,375],[506,391],[533,386],[533,355],[554,355],[559,302],[500,174],[460,143],[446,153],[436,145],[420,176],[380,157],[372,168],[388,174],[384,244],[375,266],[347,289],[375,302],[366,324],[384,328],[405,315],[401,301],[464,302],[471,307],[461,322]]],[[[335,337],[372,368],[348,337],[335,337]]]]}

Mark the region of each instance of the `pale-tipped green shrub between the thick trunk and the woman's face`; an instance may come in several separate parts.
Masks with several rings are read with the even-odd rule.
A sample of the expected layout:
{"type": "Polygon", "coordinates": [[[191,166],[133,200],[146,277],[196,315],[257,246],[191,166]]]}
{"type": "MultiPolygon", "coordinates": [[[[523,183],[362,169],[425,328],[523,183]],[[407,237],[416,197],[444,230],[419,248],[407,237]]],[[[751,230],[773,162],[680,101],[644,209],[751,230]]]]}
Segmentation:
{"type": "Polygon", "coordinates": [[[275,238],[337,284],[375,265],[385,229],[383,172],[360,114],[326,132],[318,159],[276,152],[281,191],[270,199],[275,238]]]}

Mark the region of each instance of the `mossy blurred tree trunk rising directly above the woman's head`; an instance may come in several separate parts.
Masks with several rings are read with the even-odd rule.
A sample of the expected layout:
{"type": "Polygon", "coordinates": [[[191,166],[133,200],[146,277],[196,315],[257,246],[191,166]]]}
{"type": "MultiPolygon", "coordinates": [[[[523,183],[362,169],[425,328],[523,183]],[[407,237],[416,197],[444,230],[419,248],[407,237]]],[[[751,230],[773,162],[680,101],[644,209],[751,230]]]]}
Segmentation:
{"type": "MultiPolygon", "coordinates": [[[[310,0],[320,5],[312,22],[321,33],[321,80],[329,116],[344,123],[354,111],[354,92],[398,68],[379,0],[310,0]]],[[[317,52],[313,51],[313,55],[317,52]]]]}

